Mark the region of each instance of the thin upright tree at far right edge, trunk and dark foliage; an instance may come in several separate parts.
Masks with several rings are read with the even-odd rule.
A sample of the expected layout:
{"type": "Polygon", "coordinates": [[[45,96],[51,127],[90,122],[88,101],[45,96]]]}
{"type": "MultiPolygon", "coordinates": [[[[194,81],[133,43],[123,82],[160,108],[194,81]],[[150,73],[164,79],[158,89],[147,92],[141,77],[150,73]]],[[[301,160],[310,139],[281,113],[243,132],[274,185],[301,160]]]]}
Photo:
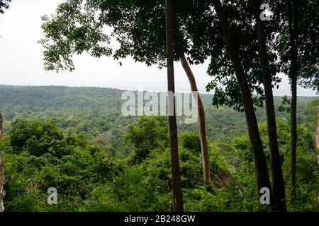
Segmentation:
{"type": "Polygon", "coordinates": [[[313,45],[318,44],[318,23],[314,23],[318,1],[287,0],[289,27],[289,79],[291,81],[291,193],[296,199],[296,149],[297,149],[297,83],[313,90],[319,90],[318,51],[313,45]],[[307,7],[305,8],[305,5],[307,7]],[[308,5],[309,4],[309,5],[308,5]],[[306,26],[306,28],[303,28],[306,26]]]}

